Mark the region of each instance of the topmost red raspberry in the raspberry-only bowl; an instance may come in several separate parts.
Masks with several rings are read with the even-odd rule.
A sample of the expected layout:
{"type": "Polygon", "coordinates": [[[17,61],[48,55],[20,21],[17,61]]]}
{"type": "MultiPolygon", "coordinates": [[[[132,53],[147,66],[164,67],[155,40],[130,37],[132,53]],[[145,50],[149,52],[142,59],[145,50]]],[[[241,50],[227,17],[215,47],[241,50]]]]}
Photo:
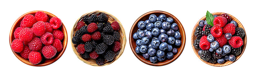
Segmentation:
{"type": "Polygon", "coordinates": [[[46,13],[44,13],[42,11],[37,11],[35,13],[35,19],[36,19],[36,21],[47,22],[49,18],[46,13]]]}

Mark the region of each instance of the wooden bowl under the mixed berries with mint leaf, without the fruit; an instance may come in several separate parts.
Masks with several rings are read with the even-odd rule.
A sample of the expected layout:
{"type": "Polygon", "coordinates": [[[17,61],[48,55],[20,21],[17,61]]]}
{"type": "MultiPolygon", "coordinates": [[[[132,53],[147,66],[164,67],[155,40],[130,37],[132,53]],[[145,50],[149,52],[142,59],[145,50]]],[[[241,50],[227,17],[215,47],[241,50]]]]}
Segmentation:
{"type": "MultiPolygon", "coordinates": [[[[213,15],[218,15],[218,16],[220,16],[221,14],[223,14],[223,13],[221,13],[221,12],[217,12],[217,13],[212,13],[213,15]]],[[[243,28],[243,25],[241,24],[241,22],[240,21],[238,21],[234,16],[232,16],[232,15],[230,15],[230,14],[228,14],[229,16],[230,16],[230,18],[231,18],[231,20],[233,20],[233,21],[236,21],[237,22],[237,26],[238,27],[241,27],[242,29],[244,29],[243,28]]],[[[203,17],[203,18],[201,18],[200,20],[206,20],[206,18],[205,18],[205,16],[203,17]]],[[[200,21],[199,20],[199,21],[200,21]]],[[[198,51],[199,51],[199,49],[196,49],[196,48],[194,48],[194,46],[193,46],[193,44],[194,44],[194,40],[196,39],[196,37],[195,37],[195,35],[194,35],[194,32],[195,32],[195,28],[197,27],[197,26],[199,26],[198,25],[198,23],[199,23],[199,21],[195,24],[195,26],[194,26],[194,29],[193,29],[193,32],[192,32],[192,35],[191,35],[191,45],[192,45],[192,47],[193,47],[193,50],[194,50],[194,53],[195,53],[195,55],[200,59],[200,60],[202,60],[201,58],[200,58],[200,56],[198,55],[198,51]]],[[[245,30],[244,30],[244,32],[245,32],[245,30]]],[[[236,56],[236,60],[235,61],[237,61],[241,56],[242,56],[242,54],[243,54],[243,52],[244,52],[244,49],[245,49],[245,47],[246,47],[246,43],[247,43],[247,36],[246,36],[246,32],[245,32],[245,37],[244,37],[244,39],[243,39],[243,45],[242,45],[242,52],[241,52],[241,54],[239,55],[239,56],[236,56]]],[[[209,65],[212,65],[212,66],[226,66],[226,65],[229,65],[229,64],[232,64],[232,63],[234,63],[234,62],[231,62],[231,61],[225,61],[223,64],[218,64],[218,63],[215,63],[215,64],[212,64],[212,63],[210,63],[210,62],[206,62],[206,61],[204,61],[204,60],[202,60],[204,63],[206,63],[206,64],[209,64],[209,65]]]]}

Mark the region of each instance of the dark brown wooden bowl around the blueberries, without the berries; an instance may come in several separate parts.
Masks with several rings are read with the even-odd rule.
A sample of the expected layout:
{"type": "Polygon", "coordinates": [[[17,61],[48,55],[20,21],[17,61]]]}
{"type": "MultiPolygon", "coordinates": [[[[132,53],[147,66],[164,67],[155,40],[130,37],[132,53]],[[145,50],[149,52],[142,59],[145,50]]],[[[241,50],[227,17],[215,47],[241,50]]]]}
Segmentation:
{"type": "Polygon", "coordinates": [[[132,49],[132,52],[133,54],[142,62],[146,63],[146,64],[149,64],[149,65],[153,65],[153,66],[161,66],[161,65],[166,65],[166,64],[169,64],[171,62],[173,62],[174,60],[176,60],[180,54],[182,53],[184,47],[185,47],[185,42],[186,42],[186,35],[185,35],[185,30],[182,26],[182,24],[180,23],[180,21],[172,14],[170,13],[167,13],[167,12],[164,12],[164,11],[151,11],[151,12],[148,12],[148,13],[145,13],[143,15],[141,15],[135,22],[134,24],[132,25],[132,28],[130,30],[130,36],[129,36],[129,40],[130,40],[130,47],[132,49]],[[161,14],[165,14],[166,17],[172,17],[174,19],[174,23],[177,23],[178,25],[178,28],[179,28],[179,31],[180,31],[180,34],[181,34],[181,46],[180,47],[177,47],[178,49],[178,53],[176,55],[173,56],[172,59],[166,59],[164,62],[157,62],[157,63],[151,63],[149,60],[146,60],[145,58],[143,58],[142,55],[138,55],[136,52],[135,52],[135,48],[137,47],[136,46],[136,39],[133,39],[133,34],[137,32],[137,30],[139,29],[138,28],[138,22],[139,21],[146,21],[148,20],[149,16],[151,14],[155,14],[156,16],[159,16],[161,14]]]}

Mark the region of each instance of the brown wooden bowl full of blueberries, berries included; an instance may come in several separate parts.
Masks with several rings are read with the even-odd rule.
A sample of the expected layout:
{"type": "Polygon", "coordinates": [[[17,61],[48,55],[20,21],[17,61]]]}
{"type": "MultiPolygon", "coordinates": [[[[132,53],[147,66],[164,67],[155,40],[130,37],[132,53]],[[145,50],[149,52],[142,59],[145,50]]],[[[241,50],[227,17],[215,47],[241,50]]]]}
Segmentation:
{"type": "Polygon", "coordinates": [[[142,62],[161,66],[173,62],[185,46],[185,31],[170,13],[151,11],[140,16],[130,31],[130,47],[142,62]]]}

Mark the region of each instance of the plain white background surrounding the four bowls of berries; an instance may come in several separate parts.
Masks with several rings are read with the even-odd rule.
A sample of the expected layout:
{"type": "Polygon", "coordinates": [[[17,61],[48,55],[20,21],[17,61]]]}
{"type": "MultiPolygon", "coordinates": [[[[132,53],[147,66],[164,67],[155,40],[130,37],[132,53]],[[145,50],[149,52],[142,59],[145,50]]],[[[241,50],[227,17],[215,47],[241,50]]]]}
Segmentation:
{"type": "Polygon", "coordinates": [[[255,2],[247,0],[2,0],[0,1],[1,51],[0,76],[255,76],[255,2]],[[9,46],[9,32],[13,23],[24,13],[42,10],[59,17],[68,32],[68,45],[65,53],[56,62],[42,67],[24,64],[17,59],[9,46]],[[123,55],[114,63],[95,67],[85,64],[77,58],[71,48],[71,28],[77,19],[92,11],[108,12],[121,21],[127,37],[123,55]],[[183,53],[172,63],[164,66],[144,64],[132,53],[129,46],[129,32],[136,19],[144,13],[154,10],[173,14],[182,23],[186,33],[186,44],[183,53]],[[244,26],[247,33],[247,46],[241,58],[233,64],[215,67],[202,62],[191,46],[191,33],[199,19],[206,11],[224,12],[235,16],[244,26]]]}

